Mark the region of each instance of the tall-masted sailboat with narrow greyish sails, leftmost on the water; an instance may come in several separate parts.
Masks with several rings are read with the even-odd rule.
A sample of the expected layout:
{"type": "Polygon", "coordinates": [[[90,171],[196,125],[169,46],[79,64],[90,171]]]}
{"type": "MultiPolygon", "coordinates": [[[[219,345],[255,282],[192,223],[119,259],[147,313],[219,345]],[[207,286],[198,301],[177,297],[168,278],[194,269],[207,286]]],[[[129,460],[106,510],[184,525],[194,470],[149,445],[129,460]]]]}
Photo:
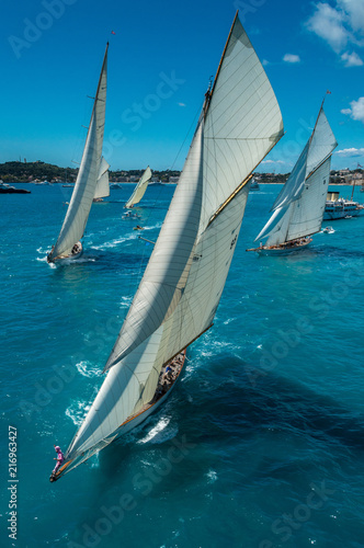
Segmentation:
{"type": "Polygon", "coordinates": [[[82,254],[82,244],[79,240],[86,229],[98,181],[104,173],[105,164],[109,167],[101,157],[105,126],[107,49],[109,43],[102,62],[80,169],[64,225],[56,244],[47,255],[48,263],[73,260],[82,254]]]}

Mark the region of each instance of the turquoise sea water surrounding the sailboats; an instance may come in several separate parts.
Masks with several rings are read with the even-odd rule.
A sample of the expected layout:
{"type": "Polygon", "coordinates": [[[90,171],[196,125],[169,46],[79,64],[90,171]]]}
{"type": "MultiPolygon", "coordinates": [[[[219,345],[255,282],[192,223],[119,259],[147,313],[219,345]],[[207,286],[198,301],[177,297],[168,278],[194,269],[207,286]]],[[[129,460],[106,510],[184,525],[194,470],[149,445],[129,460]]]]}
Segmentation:
{"type": "MultiPolygon", "coordinates": [[[[94,204],[83,258],[50,267],[71,189],[1,195],[1,546],[364,546],[364,217],[310,249],[246,253],[280,191],[250,194],[214,328],[147,423],[49,483],[102,383],[173,187],[94,204]],[[8,431],[18,432],[18,540],[8,431]]],[[[339,189],[343,195],[350,191],[339,189]]],[[[361,198],[357,190],[356,198],[361,198]]],[[[362,199],[363,202],[364,199],[362,199]]]]}

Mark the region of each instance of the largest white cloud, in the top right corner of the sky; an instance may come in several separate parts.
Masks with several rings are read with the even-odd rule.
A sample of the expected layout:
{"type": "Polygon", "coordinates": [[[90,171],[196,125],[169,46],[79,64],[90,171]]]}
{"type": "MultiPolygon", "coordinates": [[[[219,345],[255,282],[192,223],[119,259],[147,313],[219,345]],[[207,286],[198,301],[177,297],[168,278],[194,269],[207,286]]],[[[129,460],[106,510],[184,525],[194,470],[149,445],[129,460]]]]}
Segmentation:
{"type": "Polygon", "coordinates": [[[348,52],[364,46],[363,0],[335,0],[334,7],[318,2],[306,26],[340,56],[345,67],[364,65],[356,52],[348,52]]]}

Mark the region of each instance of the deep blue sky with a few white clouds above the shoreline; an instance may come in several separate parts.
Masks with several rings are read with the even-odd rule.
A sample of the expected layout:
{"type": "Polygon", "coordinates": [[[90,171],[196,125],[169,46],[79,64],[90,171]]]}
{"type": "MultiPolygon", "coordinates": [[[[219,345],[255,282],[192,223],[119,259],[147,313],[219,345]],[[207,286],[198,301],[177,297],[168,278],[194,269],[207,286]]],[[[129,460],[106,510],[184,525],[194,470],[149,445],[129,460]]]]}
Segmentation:
{"type": "Polygon", "coordinates": [[[4,0],[0,162],[77,167],[109,41],[111,169],[182,169],[237,9],[286,132],[258,171],[292,170],[327,91],[332,169],[364,165],[364,0],[4,0]]]}

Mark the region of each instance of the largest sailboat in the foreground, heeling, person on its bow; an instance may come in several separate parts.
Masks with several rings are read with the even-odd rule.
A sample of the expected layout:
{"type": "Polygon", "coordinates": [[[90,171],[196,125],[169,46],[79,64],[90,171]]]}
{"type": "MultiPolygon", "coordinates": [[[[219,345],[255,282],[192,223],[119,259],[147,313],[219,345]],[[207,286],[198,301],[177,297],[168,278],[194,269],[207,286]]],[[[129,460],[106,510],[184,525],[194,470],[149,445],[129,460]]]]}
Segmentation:
{"type": "Polygon", "coordinates": [[[106,377],[50,481],[140,424],[171,393],[186,347],[213,326],[252,172],[282,135],[273,89],[236,14],[106,377]]]}

